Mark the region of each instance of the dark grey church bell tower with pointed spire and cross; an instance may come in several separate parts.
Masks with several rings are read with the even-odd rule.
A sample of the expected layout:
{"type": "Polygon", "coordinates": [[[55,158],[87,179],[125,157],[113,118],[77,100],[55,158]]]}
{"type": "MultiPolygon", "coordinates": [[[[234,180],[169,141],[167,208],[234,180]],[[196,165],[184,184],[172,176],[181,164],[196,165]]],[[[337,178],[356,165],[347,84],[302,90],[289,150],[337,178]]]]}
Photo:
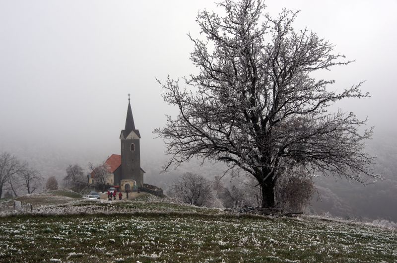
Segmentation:
{"type": "Polygon", "coordinates": [[[121,131],[121,187],[128,184],[133,187],[132,182],[135,181],[136,186],[143,187],[143,173],[140,168],[140,134],[135,129],[133,122],[132,110],[130,104],[130,94],[128,94],[128,108],[126,127],[121,131]],[[132,181],[133,180],[133,181],[132,181]]]}

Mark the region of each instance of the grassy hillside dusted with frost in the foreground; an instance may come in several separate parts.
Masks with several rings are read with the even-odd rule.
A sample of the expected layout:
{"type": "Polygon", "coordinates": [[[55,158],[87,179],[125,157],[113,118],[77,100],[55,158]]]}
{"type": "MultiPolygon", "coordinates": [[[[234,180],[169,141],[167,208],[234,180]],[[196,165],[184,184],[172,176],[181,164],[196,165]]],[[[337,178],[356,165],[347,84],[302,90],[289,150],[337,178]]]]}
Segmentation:
{"type": "Polygon", "coordinates": [[[396,229],[269,218],[151,196],[0,217],[0,262],[395,262],[396,229]]]}

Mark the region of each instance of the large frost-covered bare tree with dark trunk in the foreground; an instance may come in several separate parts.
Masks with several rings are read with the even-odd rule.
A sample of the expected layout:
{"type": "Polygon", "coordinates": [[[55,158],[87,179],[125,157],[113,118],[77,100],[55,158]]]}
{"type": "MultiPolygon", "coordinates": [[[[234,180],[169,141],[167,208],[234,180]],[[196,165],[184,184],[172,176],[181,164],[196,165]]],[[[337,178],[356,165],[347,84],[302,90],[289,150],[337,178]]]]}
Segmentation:
{"type": "Polygon", "coordinates": [[[225,162],[257,180],[264,207],[274,207],[278,177],[295,166],[363,184],[378,178],[363,153],[373,128],[362,131],[366,120],[351,112],[329,112],[336,101],[368,97],[362,83],[336,92],[328,89],[334,80],[313,77],[351,61],[308,29],[294,31],[297,12],[263,15],[261,0],[219,5],[225,16],[204,10],[197,17],[206,39],[190,36],[199,73],[184,79],[185,88],[170,77],[159,81],[164,100],[179,109],[154,131],[172,156],[164,171],[194,156],[225,162]]]}

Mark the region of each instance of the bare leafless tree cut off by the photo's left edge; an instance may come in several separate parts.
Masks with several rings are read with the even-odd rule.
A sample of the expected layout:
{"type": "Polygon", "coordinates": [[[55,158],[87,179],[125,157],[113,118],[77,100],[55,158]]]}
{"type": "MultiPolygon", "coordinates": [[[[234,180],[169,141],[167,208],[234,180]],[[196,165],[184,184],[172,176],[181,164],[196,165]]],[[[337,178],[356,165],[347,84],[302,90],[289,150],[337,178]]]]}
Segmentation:
{"type": "Polygon", "coordinates": [[[17,196],[16,177],[25,168],[25,164],[21,163],[18,158],[8,152],[0,154],[0,197],[3,188],[8,184],[14,195],[17,196]]]}

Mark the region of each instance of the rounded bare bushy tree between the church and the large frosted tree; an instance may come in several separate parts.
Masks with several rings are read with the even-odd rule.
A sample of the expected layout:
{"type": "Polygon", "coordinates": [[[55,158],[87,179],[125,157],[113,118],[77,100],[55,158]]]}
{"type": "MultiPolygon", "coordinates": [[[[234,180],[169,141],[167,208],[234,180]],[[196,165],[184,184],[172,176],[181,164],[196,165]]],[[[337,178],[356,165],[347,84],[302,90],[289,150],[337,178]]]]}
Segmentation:
{"type": "Polygon", "coordinates": [[[169,192],[185,203],[202,206],[212,197],[211,183],[203,176],[185,173],[174,181],[169,192]]]}

